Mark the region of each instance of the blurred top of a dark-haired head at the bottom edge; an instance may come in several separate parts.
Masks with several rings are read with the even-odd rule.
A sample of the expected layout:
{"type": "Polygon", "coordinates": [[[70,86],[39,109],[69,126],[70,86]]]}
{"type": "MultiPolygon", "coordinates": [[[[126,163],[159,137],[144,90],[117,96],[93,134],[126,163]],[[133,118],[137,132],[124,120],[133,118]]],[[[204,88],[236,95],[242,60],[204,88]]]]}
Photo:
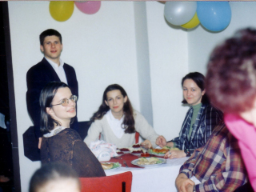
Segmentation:
{"type": "Polygon", "coordinates": [[[29,192],[80,192],[78,174],[66,164],[50,163],[36,170],[29,192]]]}

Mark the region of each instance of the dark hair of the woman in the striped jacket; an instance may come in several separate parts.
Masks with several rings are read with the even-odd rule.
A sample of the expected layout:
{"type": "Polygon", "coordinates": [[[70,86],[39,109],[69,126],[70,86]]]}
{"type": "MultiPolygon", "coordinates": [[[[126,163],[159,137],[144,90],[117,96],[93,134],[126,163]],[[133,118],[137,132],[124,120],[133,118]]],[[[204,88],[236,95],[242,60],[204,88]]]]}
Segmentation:
{"type": "MultiPolygon", "coordinates": [[[[205,76],[203,76],[203,74],[200,74],[198,72],[194,72],[194,73],[190,73],[190,74],[186,74],[186,76],[184,78],[182,78],[182,86],[183,86],[183,82],[185,82],[186,79],[192,79],[197,86],[201,89],[201,91],[205,90],[205,76]]],[[[206,95],[206,93],[204,95],[202,95],[202,103],[210,103],[210,100],[208,98],[208,96],[206,95]]],[[[186,104],[186,99],[184,98],[182,103],[186,104]]]]}

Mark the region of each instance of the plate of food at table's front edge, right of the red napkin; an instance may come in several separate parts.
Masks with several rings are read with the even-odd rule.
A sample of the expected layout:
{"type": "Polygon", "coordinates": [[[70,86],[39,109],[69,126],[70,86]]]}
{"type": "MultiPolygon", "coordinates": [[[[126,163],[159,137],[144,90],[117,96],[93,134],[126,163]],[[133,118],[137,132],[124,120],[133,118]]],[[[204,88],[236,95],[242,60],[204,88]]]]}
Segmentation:
{"type": "Polygon", "coordinates": [[[138,158],[131,162],[134,166],[156,166],[166,163],[165,158],[138,158]]]}

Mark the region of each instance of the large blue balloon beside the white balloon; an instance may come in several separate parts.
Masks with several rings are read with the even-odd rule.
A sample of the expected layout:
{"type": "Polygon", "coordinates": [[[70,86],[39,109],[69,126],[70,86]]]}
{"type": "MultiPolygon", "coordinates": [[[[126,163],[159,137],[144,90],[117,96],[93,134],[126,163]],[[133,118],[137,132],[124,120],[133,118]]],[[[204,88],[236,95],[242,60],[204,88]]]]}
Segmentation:
{"type": "Polygon", "coordinates": [[[198,2],[198,19],[207,30],[224,30],[231,20],[229,2],[198,2]]]}

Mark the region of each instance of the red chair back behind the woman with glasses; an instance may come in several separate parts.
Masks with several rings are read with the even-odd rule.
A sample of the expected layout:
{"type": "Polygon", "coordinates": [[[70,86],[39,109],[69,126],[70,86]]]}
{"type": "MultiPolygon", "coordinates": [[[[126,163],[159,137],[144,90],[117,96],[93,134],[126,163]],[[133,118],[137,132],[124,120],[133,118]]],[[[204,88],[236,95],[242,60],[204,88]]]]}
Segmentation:
{"type": "Polygon", "coordinates": [[[81,192],[130,192],[133,174],[127,171],[122,174],[114,174],[99,178],[79,178],[81,182],[81,192]],[[126,189],[122,190],[123,183],[126,182],[126,189]]]}

